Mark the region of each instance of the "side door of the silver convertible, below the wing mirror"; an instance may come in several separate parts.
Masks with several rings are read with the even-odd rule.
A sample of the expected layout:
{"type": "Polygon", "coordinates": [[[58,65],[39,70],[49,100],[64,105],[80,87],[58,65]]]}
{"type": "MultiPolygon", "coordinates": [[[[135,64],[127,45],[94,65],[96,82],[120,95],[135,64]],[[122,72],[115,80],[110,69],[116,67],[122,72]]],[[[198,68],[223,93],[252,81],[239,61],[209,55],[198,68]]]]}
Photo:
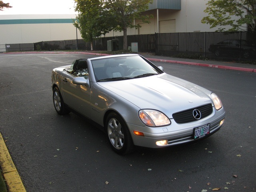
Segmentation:
{"type": "MultiPolygon", "coordinates": [[[[90,118],[90,86],[77,85],[72,82],[76,76],[66,74],[62,80],[62,95],[64,102],[72,109],[90,118]]],[[[89,75],[84,76],[89,81],[89,75]]]]}

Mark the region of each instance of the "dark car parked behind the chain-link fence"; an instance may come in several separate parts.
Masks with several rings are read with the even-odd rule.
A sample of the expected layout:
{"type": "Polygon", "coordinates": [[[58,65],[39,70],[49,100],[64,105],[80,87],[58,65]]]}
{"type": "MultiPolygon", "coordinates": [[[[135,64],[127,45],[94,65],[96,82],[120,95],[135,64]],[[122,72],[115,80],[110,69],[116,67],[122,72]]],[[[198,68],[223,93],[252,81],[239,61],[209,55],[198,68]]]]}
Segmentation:
{"type": "Polygon", "coordinates": [[[221,55],[240,55],[243,58],[251,58],[256,55],[256,46],[252,45],[246,40],[230,39],[218,42],[216,44],[210,44],[210,52],[216,56],[221,55]],[[241,42],[241,44],[240,44],[241,42]]]}

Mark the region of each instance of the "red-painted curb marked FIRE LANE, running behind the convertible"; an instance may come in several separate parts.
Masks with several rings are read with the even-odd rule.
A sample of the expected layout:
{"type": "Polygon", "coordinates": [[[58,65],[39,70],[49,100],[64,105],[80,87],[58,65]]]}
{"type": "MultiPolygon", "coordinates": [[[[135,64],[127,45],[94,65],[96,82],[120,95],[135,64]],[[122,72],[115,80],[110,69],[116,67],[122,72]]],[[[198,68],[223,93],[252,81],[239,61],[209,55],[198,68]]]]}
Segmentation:
{"type": "MultiPolygon", "coordinates": [[[[25,54],[25,53],[47,53],[47,54],[87,54],[87,55],[100,55],[100,56],[109,56],[111,54],[103,54],[103,53],[91,53],[91,52],[47,52],[47,51],[34,51],[34,52],[4,52],[4,54],[25,54]]],[[[256,73],[256,69],[254,68],[243,68],[243,67],[232,67],[232,66],[224,66],[224,65],[213,65],[213,64],[203,64],[196,62],[185,62],[185,61],[177,61],[177,60],[164,60],[164,59],[155,59],[155,58],[146,58],[150,61],[158,61],[158,62],[168,62],[168,63],[177,63],[177,64],[186,64],[186,65],[196,65],[202,67],[211,67],[211,68],[219,68],[219,69],[230,69],[230,70],[238,70],[245,72],[254,72],[256,73]]]]}

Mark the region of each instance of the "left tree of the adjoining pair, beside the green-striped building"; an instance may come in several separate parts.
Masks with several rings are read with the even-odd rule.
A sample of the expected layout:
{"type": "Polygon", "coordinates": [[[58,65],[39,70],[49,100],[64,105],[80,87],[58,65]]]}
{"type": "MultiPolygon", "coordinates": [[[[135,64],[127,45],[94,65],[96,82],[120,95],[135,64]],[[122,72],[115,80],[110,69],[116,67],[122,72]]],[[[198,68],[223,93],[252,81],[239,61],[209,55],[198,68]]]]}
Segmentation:
{"type": "Polygon", "coordinates": [[[91,42],[93,50],[93,40],[102,34],[106,34],[112,27],[112,19],[107,15],[102,0],[75,0],[75,10],[78,16],[74,22],[86,42],[91,42]]]}

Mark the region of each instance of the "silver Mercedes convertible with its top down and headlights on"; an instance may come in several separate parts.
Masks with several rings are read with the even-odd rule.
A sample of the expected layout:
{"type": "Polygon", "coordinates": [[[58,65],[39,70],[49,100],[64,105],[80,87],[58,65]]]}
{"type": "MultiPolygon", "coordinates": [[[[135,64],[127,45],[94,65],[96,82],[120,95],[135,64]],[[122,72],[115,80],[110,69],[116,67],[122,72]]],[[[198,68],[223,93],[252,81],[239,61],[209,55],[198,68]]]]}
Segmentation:
{"type": "Polygon", "coordinates": [[[82,114],[104,128],[118,154],[160,148],[215,133],[225,110],[218,96],[163,72],[138,54],[75,60],[52,71],[58,114],[82,114]]]}

